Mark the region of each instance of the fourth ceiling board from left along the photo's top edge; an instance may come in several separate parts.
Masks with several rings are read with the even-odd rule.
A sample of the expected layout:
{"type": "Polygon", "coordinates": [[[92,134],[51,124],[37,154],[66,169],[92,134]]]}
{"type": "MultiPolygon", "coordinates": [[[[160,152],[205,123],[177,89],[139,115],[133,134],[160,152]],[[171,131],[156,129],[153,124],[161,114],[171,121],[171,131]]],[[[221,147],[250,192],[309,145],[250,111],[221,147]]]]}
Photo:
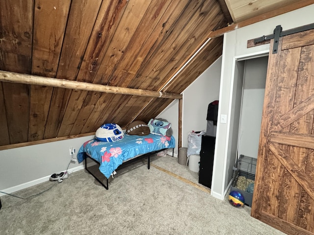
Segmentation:
{"type": "MultiPolygon", "coordinates": [[[[92,82],[94,80],[128,2],[127,0],[102,1],[78,72],[78,81],[92,82]]],[[[85,91],[76,91],[75,94],[72,92],[58,132],[59,136],[70,134],[75,122],[84,122],[84,117],[79,116],[83,118],[80,120],[77,118],[87,94],[85,91]]],[[[84,132],[84,128],[82,131],[87,133],[84,132]]]]}

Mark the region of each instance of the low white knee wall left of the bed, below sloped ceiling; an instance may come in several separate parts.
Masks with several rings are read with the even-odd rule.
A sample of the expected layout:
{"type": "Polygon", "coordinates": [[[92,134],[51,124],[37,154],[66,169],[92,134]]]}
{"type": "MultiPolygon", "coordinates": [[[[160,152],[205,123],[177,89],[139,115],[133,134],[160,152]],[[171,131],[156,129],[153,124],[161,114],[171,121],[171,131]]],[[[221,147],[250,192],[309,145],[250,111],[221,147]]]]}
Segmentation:
{"type": "MultiPolygon", "coordinates": [[[[92,138],[94,136],[1,150],[0,191],[11,193],[49,180],[53,173],[66,170],[71,160],[70,147],[77,153],[79,147],[92,138]]],[[[78,162],[71,163],[69,172],[78,168],[84,167],[78,162]]]]}

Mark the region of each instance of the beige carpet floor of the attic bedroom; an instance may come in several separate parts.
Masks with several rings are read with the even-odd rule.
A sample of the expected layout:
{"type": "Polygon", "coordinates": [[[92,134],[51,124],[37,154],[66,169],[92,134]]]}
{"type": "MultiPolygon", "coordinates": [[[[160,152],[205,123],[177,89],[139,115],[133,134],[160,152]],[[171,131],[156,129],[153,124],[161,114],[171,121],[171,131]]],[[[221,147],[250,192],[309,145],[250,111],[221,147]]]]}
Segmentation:
{"type": "Polygon", "coordinates": [[[143,160],[121,169],[109,190],[76,171],[62,183],[14,193],[26,198],[48,189],[28,200],[1,197],[0,234],[283,235],[252,218],[249,207],[234,208],[197,182],[197,173],[170,156],[153,157],[150,170],[143,160]]]}

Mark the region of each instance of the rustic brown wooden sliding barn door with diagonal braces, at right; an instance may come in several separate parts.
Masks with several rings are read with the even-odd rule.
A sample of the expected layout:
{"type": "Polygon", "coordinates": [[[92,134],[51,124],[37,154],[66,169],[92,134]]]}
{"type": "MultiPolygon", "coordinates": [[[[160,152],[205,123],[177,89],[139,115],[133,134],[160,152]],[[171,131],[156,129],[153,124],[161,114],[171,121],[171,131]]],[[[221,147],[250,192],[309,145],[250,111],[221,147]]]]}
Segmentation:
{"type": "Polygon", "coordinates": [[[314,30],[270,45],[251,215],[314,235],[314,30]]]}

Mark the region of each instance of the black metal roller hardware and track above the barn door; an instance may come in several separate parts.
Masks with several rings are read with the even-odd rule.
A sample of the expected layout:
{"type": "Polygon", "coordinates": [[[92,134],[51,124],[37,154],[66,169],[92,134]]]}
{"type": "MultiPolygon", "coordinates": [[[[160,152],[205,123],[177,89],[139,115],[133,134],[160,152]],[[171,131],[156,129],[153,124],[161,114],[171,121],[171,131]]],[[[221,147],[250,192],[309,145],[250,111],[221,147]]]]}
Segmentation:
{"type": "Polygon", "coordinates": [[[303,32],[303,31],[310,30],[313,28],[314,28],[314,24],[306,24],[306,25],[303,25],[300,27],[296,27],[296,28],[282,31],[283,28],[281,27],[281,25],[277,25],[276,28],[274,29],[274,34],[269,34],[266,36],[263,35],[262,37],[255,38],[254,44],[258,44],[258,43],[262,43],[262,42],[270,40],[270,39],[274,39],[273,54],[276,54],[278,51],[278,44],[279,44],[279,38],[280,37],[287,36],[287,35],[293,34],[293,33],[303,32]]]}

